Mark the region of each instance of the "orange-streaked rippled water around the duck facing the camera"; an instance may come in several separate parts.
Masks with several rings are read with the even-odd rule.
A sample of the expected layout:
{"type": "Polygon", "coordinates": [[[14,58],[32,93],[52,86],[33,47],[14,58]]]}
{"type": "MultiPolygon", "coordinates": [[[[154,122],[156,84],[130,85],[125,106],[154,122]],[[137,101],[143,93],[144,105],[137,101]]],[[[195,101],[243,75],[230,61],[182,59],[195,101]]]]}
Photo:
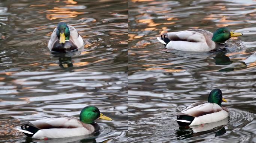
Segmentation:
{"type": "Polygon", "coordinates": [[[127,8],[122,0],[1,0],[0,71],[126,71],[127,8]],[[77,29],[84,48],[48,50],[60,21],[77,29]]]}

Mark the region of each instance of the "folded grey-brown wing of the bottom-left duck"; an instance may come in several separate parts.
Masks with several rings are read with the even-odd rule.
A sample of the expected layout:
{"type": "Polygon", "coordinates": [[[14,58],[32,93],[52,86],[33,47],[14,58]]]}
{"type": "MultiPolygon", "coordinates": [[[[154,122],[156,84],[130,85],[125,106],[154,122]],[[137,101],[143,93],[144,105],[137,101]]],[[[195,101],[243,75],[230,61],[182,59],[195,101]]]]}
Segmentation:
{"type": "Polygon", "coordinates": [[[30,123],[39,129],[83,127],[83,124],[77,118],[72,117],[48,118],[30,121],[30,123]]]}

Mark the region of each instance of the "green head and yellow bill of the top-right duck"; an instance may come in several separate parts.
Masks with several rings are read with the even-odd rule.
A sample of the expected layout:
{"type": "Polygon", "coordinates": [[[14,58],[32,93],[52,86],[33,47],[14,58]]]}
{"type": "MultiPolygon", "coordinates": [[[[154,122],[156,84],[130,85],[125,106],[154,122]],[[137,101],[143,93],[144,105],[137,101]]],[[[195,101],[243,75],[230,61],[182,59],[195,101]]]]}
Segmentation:
{"type": "Polygon", "coordinates": [[[237,37],[243,35],[242,33],[235,33],[230,31],[227,27],[222,27],[217,29],[214,34],[213,38],[211,38],[212,41],[217,43],[225,43],[229,38],[231,37],[237,37]]]}

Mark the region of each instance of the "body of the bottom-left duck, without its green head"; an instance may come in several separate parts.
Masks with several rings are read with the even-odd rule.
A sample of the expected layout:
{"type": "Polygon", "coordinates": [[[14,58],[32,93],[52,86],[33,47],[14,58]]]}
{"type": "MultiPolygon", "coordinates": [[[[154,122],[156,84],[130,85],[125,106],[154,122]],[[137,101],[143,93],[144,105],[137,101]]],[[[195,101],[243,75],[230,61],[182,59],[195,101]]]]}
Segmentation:
{"type": "Polygon", "coordinates": [[[56,139],[63,137],[83,136],[100,130],[97,123],[85,124],[75,117],[54,117],[36,121],[25,121],[21,129],[28,137],[56,139]]]}

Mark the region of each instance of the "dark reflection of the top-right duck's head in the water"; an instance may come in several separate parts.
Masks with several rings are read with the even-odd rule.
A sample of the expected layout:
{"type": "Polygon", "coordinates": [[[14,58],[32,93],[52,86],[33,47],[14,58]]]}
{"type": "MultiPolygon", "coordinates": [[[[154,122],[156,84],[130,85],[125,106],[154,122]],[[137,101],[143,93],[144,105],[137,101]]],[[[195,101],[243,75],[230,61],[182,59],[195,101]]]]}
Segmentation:
{"type": "Polygon", "coordinates": [[[224,66],[224,68],[220,69],[219,71],[234,71],[240,69],[246,69],[247,65],[243,61],[231,61],[228,56],[226,56],[226,49],[222,51],[216,52],[215,60],[216,65],[224,66]]]}

